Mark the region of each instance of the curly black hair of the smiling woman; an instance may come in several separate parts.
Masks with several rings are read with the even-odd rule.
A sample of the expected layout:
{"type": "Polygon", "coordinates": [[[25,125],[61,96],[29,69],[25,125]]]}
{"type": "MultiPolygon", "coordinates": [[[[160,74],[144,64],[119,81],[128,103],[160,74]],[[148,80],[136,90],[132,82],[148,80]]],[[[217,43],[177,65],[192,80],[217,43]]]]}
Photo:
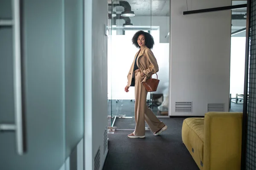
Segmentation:
{"type": "Polygon", "coordinates": [[[152,35],[150,35],[148,32],[144,32],[144,31],[138,31],[134,34],[134,36],[132,37],[131,41],[132,43],[134,44],[134,46],[136,46],[137,48],[140,48],[137,40],[138,40],[138,37],[140,35],[144,35],[145,36],[145,42],[146,42],[146,46],[149,48],[149,49],[152,49],[153,46],[154,46],[154,38],[152,37],[152,35]]]}

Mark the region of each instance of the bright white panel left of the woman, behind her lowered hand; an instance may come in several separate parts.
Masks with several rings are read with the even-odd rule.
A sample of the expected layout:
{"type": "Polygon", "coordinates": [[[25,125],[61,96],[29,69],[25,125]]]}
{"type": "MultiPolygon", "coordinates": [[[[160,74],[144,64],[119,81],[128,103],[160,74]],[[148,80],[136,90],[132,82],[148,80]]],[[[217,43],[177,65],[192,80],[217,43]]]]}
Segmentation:
{"type": "Polygon", "coordinates": [[[127,75],[130,70],[134,56],[138,49],[131,43],[131,36],[112,35],[111,50],[109,55],[108,76],[111,77],[111,99],[112,100],[134,100],[134,87],[130,87],[129,92],[125,92],[127,85],[127,75]]]}

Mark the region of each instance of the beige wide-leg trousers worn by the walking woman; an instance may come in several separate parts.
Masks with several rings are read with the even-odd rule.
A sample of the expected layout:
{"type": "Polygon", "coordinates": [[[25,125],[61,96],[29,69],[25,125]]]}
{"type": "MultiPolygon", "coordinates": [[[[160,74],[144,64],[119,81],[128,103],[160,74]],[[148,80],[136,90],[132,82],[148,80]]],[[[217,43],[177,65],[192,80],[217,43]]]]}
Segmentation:
{"type": "Polygon", "coordinates": [[[140,72],[135,72],[135,122],[134,130],[135,136],[145,135],[145,121],[150,130],[155,133],[165,126],[163,122],[159,121],[157,116],[148,108],[146,100],[147,94],[145,87],[140,82],[140,72]]]}

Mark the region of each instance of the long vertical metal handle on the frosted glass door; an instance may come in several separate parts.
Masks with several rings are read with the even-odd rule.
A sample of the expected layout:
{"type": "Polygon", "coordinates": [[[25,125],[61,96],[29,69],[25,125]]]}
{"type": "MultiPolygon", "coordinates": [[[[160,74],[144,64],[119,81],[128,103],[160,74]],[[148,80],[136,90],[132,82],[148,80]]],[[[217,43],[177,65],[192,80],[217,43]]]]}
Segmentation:
{"type": "Polygon", "coordinates": [[[15,131],[17,154],[23,155],[26,152],[26,133],[22,101],[20,0],[12,0],[12,14],[15,123],[0,124],[0,131],[15,131]]]}

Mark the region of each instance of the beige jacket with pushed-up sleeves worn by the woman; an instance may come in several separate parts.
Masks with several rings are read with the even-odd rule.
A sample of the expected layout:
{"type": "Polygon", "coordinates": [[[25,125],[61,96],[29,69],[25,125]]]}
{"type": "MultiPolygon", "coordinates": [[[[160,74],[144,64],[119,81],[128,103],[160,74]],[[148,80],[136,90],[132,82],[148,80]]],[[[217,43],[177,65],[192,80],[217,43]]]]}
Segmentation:
{"type": "Polygon", "coordinates": [[[145,49],[139,50],[134,57],[134,61],[131,64],[130,71],[127,75],[127,86],[131,86],[131,80],[134,74],[134,63],[138,53],[140,54],[137,58],[137,66],[145,74],[140,80],[141,83],[145,82],[152,74],[157,73],[159,70],[157,60],[154,57],[153,52],[149,48],[145,47],[145,49]]]}

